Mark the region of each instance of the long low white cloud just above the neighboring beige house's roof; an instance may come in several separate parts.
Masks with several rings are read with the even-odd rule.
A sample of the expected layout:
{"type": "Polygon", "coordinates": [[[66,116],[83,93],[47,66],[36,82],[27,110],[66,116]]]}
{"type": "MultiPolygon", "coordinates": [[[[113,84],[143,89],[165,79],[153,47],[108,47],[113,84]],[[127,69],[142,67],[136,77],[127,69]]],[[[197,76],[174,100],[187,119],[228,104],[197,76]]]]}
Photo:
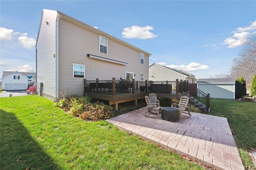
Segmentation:
{"type": "Polygon", "coordinates": [[[194,63],[194,62],[191,62],[188,65],[166,65],[166,63],[164,63],[164,62],[160,62],[158,64],[164,65],[166,67],[174,68],[174,69],[182,69],[184,71],[196,71],[196,70],[210,68],[208,65],[202,65],[202,64],[194,63]]]}

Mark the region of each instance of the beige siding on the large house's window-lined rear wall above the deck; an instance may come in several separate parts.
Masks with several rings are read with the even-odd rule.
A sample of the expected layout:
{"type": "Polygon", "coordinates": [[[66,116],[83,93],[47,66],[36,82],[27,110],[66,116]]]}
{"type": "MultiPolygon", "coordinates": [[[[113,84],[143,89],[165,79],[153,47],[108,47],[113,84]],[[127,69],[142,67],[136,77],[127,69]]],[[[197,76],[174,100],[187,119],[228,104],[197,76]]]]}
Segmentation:
{"type": "Polygon", "coordinates": [[[148,55],[144,54],[144,64],[140,64],[140,52],[132,49],[111,37],[92,32],[85,27],[78,26],[64,18],[59,18],[58,31],[58,71],[59,92],[66,95],[83,95],[84,79],[73,78],[73,63],[85,65],[87,80],[112,80],[112,77],[125,78],[126,71],[133,72],[136,80],[140,80],[140,73],[148,77],[148,55]],[[108,39],[108,54],[99,52],[99,38],[108,39]],[[128,63],[120,65],[108,61],[93,59],[87,54],[97,55],[128,63]]]}

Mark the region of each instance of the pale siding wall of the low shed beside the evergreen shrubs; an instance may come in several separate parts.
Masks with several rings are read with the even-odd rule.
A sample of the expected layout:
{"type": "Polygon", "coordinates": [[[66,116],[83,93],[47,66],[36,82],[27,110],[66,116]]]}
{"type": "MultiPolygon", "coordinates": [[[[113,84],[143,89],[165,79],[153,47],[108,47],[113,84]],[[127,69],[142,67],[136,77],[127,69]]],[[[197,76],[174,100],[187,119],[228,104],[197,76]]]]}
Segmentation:
{"type": "Polygon", "coordinates": [[[204,93],[210,93],[210,98],[235,99],[235,85],[225,83],[198,83],[197,88],[204,93]]]}

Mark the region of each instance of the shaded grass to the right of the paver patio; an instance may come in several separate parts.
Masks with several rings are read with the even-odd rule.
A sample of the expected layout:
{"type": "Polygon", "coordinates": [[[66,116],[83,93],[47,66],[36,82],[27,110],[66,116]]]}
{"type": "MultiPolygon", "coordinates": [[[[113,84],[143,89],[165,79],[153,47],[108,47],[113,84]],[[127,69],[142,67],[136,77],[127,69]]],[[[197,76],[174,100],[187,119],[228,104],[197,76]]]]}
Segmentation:
{"type": "Polygon", "coordinates": [[[210,99],[210,115],[226,117],[246,169],[253,168],[248,152],[256,150],[256,103],[210,99]]]}

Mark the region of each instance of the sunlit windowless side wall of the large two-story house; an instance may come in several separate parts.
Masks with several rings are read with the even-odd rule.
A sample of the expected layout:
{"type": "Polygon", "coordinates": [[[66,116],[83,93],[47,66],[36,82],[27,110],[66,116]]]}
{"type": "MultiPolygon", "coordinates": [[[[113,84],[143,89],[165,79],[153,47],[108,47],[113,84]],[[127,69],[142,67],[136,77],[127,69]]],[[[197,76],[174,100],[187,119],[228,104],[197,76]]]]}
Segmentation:
{"type": "Polygon", "coordinates": [[[43,95],[52,100],[56,97],[56,57],[52,57],[52,54],[56,54],[56,17],[56,11],[43,11],[36,42],[37,93],[40,94],[42,82],[43,95]]]}

